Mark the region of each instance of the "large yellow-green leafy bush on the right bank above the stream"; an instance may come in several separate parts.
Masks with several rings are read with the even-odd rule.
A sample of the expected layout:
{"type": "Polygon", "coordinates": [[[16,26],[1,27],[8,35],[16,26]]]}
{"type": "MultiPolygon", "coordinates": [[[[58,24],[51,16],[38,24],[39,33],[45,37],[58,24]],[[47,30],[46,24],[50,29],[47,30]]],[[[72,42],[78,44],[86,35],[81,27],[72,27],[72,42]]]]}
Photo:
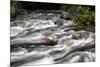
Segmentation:
{"type": "Polygon", "coordinates": [[[79,6],[74,21],[79,26],[94,26],[95,11],[92,9],[92,7],[79,6]]]}

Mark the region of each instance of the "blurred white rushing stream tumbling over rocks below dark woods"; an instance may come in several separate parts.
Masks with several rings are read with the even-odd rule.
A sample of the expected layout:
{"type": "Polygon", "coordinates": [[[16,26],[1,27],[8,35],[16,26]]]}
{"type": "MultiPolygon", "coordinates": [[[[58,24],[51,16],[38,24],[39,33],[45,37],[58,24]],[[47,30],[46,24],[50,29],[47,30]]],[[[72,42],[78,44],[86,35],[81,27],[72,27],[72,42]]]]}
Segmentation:
{"type": "Polygon", "coordinates": [[[95,32],[75,30],[68,18],[67,12],[48,10],[11,21],[11,66],[94,62],[95,32]]]}

